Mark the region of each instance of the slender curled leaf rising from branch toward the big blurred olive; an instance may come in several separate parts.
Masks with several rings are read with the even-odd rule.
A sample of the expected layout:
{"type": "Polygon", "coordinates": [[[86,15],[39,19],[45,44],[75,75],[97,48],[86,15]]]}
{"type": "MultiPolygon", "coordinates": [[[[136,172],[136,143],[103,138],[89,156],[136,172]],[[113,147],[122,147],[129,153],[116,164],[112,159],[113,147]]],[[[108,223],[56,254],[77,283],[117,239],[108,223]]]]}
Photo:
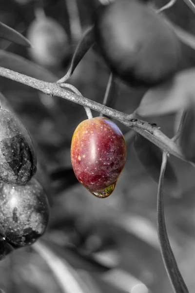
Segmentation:
{"type": "Polygon", "coordinates": [[[82,60],[85,56],[87,51],[94,45],[94,28],[90,27],[82,36],[78,46],[75,50],[75,53],[72,58],[72,62],[70,68],[66,75],[62,77],[57,83],[61,84],[66,82],[73,74],[75,68],[77,67],[78,63],[82,60]]]}

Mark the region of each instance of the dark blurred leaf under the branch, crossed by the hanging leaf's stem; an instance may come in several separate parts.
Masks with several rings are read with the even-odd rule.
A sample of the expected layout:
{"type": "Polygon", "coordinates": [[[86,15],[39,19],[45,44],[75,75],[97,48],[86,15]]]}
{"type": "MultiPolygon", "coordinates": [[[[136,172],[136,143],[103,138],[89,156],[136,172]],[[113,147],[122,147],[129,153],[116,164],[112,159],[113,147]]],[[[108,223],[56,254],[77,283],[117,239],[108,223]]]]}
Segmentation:
{"type": "MultiPolygon", "coordinates": [[[[162,163],[162,151],[159,147],[139,134],[136,135],[134,146],[141,164],[145,167],[148,174],[158,183],[162,163]]],[[[166,188],[174,188],[177,184],[176,174],[169,162],[165,170],[164,183],[166,188]]]]}

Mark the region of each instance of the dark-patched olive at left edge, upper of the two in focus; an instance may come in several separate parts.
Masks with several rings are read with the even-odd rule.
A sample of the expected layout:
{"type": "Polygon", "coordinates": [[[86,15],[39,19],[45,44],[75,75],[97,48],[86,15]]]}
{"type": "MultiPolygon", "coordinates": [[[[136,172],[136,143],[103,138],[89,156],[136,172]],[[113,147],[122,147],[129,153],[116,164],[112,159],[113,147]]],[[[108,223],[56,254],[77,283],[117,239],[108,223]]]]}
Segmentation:
{"type": "Polygon", "coordinates": [[[0,109],[0,182],[23,185],[37,170],[31,137],[20,119],[0,109]]]}

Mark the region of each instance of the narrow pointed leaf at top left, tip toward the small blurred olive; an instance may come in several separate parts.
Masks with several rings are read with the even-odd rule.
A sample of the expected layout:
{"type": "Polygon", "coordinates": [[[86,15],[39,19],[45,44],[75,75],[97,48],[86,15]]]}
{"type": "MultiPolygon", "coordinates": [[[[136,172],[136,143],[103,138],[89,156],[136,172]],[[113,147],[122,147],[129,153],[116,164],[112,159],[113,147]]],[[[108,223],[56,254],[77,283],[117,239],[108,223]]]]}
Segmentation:
{"type": "Polygon", "coordinates": [[[30,42],[24,36],[2,22],[0,22],[0,38],[25,47],[31,47],[30,42]]]}

